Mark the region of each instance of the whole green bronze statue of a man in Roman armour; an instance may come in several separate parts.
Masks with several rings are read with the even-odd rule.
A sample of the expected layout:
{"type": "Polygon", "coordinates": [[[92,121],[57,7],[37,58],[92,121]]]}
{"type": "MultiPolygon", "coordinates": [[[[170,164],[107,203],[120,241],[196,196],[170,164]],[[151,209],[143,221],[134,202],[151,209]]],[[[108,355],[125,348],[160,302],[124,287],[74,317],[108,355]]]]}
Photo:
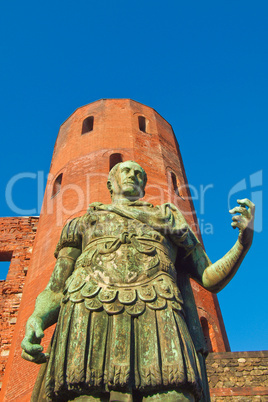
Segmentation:
{"type": "Polygon", "coordinates": [[[211,264],[174,205],[140,201],[146,180],[136,162],[117,164],[112,203],[91,204],[63,228],[22,342],[23,358],[46,362],[34,402],[209,401],[189,277],[211,292],[230,281],[252,242],[254,205],[238,200],[238,240],[211,264]],[[43,331],[55,322],[45,354],[43,331]]]}

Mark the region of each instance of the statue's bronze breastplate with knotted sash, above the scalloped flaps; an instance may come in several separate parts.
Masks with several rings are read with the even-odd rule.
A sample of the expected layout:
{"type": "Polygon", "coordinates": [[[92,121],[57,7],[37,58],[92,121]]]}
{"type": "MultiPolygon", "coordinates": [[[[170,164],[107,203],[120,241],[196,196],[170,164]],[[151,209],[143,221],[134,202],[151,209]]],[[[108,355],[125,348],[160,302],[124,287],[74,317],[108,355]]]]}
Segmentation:
{"type": "Polygon", "coordinates": [[[103,284],[140,282],[159,271],[175,277],[176,248],[147,224],[97,211],[83,220],[82,268],[103,284]]]}

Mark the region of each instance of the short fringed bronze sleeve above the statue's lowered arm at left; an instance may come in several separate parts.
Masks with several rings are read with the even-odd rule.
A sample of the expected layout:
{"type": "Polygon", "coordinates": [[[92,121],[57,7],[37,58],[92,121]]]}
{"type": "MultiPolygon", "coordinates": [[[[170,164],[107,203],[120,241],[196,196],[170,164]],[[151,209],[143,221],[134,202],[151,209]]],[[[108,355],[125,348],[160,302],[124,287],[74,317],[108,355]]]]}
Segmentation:
{"type": "Polygon", "coordinates": [[[82,236],[80,231],[81,218],[74,218],[66,223],[62,229],[60,240],[55,250],[55,257],[58,257],[60,250],[64,247],[82,248],[82,236]]]}

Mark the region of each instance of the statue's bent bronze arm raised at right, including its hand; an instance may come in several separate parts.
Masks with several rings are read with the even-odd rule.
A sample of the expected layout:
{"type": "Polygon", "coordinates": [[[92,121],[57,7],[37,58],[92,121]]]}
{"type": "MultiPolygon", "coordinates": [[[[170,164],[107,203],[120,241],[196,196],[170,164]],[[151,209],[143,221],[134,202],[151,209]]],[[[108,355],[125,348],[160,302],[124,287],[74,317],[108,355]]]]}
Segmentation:
{"type": "Polygon", "coordinates": [[[248,199],[237,202],[239,206],[229,211],[231,214],[240,214],[232,218],[232,227],[239,229],[239,235],[231,250],[211,264],[198,244],[186,261],[191,277],[213,293],[222,290],[233,278],[252,243],[255,206],[248,199]]]}

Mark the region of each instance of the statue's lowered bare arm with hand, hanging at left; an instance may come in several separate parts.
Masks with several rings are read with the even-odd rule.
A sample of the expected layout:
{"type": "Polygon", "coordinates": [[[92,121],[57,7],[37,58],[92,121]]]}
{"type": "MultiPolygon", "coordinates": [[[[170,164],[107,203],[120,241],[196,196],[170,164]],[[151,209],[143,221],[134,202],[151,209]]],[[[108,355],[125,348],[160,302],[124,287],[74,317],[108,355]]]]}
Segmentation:
{"type": "Polygon", "coordinates": [[[37,297],[34,312],[26,324],[25,337],[21,343],[22,357],[25,360],[37,364],[46,362],[48,356],[42,353],[40,342],[44,330],[57,322],[65,282],[73,272],[75,261],[80,254],[81,250],[74,247],[64,247],[60,250],[48,285],[37,297]]]}

